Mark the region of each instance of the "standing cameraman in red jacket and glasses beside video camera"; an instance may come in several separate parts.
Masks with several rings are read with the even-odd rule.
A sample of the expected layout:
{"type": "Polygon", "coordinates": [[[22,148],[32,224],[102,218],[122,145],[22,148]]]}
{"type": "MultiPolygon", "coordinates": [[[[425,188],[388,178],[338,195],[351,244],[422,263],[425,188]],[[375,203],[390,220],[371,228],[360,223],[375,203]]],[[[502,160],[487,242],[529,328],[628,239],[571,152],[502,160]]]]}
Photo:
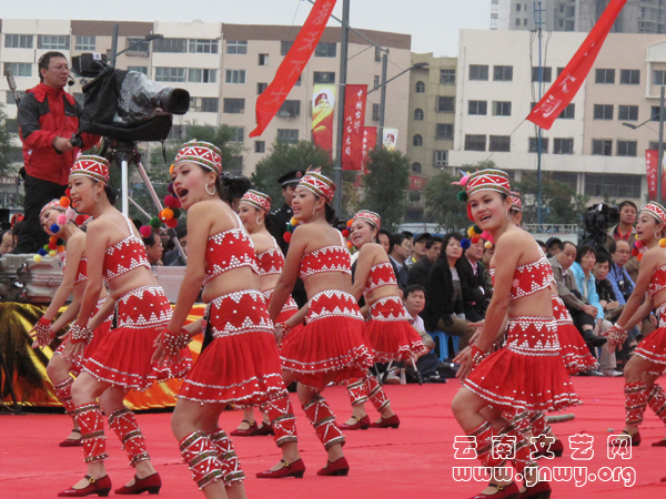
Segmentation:
{"type": "MultiPolygon", "coordinates": [[[[26,167],[26,218],[13,253],[36,253],[47,243],[39,212],[44,204],[64,195],[70,169],[79,147],[71,143],[79,130],[81,106],[64,91],[70,67],[61,52],[47,52],[39,60],[40,84],[26,92],[19,104],[19,136],[26,167]]],[[[83,150],[100,138],[82,134],[83,150]]]]}

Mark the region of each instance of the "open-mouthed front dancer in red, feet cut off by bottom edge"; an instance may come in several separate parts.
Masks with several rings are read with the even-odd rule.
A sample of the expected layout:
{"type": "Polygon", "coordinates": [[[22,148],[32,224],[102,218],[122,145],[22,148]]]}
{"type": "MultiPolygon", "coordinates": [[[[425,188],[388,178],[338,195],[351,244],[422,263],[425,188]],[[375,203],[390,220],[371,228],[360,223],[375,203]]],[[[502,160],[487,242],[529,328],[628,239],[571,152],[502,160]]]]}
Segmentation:
{"type": "Polygon", "coordinates": [[[233,444],[218,426],[224,407],[274,398],[286,399],[289,407],[252,240],[221,198],[221,153],[213,144],[188,142],[175,157],[173,190],[188,210],[188,267],[154,355],[160,361],[178,358],[199,332],[183,324],[203,284],[206,328],[213,339],[183,383],[171,429],[192,478],[209,499],[245,497],[233,444]]]}

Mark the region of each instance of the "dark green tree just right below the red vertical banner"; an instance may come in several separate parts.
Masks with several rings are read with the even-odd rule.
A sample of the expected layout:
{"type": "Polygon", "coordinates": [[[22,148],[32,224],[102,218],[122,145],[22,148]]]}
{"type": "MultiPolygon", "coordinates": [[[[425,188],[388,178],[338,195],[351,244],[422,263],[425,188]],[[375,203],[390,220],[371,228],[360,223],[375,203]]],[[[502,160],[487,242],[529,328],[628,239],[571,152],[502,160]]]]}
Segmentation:
{"type": "Polygon", "coordinates": [[[363,177],[363,207],[377,212],[382,216],[382,226],[394,231],[405,216],[408,160],[400,151],[373,150],[367,169],[369,173],[363,177]]]}

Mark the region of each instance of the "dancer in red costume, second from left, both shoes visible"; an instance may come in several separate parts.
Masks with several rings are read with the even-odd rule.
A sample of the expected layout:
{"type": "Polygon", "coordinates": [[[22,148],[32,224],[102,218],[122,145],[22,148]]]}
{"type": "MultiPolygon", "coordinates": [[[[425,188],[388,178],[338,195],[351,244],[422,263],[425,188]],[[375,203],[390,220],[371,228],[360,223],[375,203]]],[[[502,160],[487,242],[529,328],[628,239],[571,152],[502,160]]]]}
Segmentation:
{"type": "Polygon", "coordinates": [[[150,461],[134,414],[124,407],[123,398],[131,389],[143,390],[155,380],[184,375],[191,365],[189,352],[182,353],[183,360],[172,369],[161,369],[151,361],[153,343],[171,317],[171,306],[150,269],[137,228],[112,205],[115,195],[109,187],[109,162],[99,156],[80,156],[70,173],[70,190],[74,208],[94,218],[88,224],[85,237],[88,284],[63,352],[70,359],[79,355],[87,357],[83,371],[72,385],[72,400],[88,475],[59,496],[109,493],[111,479],[104,469],[108,455],[102,409],[135,469],[134,478],[115,493],[157,493],[162,483],[160,476],[150,461]],[[108,283],[110,299],[89,319],[103,279],[108,283]],[[93,329],[114,303],[117,327],[87,355],[84,348],[93,339],[93,329]],[[100,397],[102,394],[104,397],[100,397]]]}

